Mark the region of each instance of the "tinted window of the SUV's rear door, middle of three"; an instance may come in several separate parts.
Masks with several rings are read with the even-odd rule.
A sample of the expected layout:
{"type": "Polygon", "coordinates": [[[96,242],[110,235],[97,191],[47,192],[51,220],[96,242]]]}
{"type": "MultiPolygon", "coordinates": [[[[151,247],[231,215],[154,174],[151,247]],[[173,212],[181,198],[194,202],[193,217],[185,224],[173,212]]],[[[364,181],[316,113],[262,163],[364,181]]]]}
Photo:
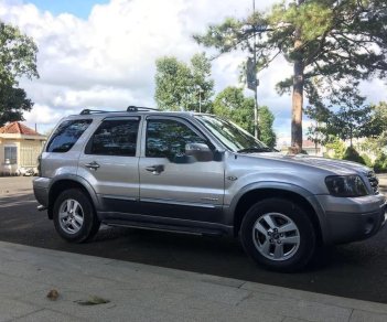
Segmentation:
{"type": "Polygon", "coordinates": [[[105,120],[94,133],[87,154],[135,157],[139,120],[105,120]]]}

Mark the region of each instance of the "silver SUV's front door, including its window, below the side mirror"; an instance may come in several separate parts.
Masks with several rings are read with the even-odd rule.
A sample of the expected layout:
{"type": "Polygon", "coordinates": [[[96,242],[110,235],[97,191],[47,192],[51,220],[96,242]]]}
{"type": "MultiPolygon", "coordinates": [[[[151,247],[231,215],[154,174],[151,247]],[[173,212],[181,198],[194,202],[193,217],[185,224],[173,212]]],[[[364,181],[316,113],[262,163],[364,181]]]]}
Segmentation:
{"type": "Polygon", "coordinates": [[[150,116],[139,161],[142,213],[195,222],[221,222],[224,162],[193,160],[185,146],[207,144],[189,121],[150,116]]]}

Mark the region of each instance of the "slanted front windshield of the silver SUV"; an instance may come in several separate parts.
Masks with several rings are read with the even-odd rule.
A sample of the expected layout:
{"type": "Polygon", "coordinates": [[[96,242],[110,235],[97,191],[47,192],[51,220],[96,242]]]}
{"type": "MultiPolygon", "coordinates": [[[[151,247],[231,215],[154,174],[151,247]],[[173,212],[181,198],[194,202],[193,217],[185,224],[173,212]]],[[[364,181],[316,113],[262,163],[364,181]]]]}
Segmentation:
{"type": "Polygon", "coordinates": [[[209,115],[196,115],[195,118],[233,152],[254,153],[275,151],[228,120],[209,115]]]}

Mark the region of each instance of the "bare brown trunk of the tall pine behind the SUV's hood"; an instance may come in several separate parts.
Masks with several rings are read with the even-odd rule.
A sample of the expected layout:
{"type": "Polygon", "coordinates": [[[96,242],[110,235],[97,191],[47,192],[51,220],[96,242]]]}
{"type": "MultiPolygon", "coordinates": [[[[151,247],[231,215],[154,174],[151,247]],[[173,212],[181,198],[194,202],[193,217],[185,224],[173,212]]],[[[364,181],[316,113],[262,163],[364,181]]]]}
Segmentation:
{"type": "MultiPolygon", "coordinates": [[[[298,0],[298,6],[301,6],[304,0],[298,0]]],[[[302,106],[303,106],[303,57],[301,52],[301,29],[295,29],[294,32],[294,67],[293,67],[293,96],[292,96],[292,112],[291,112],[291,148],[295,153],[302,151],[302,106]]]]}

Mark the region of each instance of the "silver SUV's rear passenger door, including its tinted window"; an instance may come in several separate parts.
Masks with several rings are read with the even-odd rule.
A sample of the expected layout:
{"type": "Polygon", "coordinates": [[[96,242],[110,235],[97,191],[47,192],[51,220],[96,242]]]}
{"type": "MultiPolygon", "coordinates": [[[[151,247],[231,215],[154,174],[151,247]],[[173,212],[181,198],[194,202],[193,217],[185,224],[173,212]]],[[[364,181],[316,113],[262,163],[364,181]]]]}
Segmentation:
{"type": "Polygon", "coordinates": [[[137,213],[139,117],[106,118],[86,144],[78,175],[96,191],[101,211],[137,213]]]}

